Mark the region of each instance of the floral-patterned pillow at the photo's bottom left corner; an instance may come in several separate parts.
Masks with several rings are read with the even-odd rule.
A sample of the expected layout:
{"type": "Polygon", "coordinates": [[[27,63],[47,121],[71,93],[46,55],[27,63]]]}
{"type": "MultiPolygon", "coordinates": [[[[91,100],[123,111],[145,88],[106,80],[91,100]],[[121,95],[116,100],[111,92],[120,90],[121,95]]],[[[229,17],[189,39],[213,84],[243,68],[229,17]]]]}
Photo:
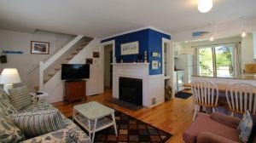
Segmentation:
{"type": "Polygon", "coordinates": [[[0,117],[0,142],[20,142],[26,140],[25,134],[6,117],[0,117]]]}

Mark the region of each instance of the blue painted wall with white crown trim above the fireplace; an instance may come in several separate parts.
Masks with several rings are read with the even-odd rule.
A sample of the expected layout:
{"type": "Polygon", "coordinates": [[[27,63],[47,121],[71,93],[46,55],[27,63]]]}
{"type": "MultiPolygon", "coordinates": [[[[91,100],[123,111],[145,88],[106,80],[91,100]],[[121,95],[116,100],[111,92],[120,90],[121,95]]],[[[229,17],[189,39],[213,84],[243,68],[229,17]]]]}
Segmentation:
{"type": "Polygon", "coordinates": [[[115,57],[117,62],[122,59],[123,62],[133,62],[144,59],[144,51],[147,51],[149,65],[149,75],[157,75],[162,73],[162,37],[171,39],[169,35],[145,29],[142,31],[134,31],[118,37],[111,37],[102,40],[102,43],[115,40],[115,57]],[[120,46],[122,43],[139,42],[139,54],[120,55],[120,46]],[[158,52],[160,57],[152,57],[152,52],[158,52]],[[158,60],[161,64],[157,70],[152,70],[151,61],[158,60]]]}

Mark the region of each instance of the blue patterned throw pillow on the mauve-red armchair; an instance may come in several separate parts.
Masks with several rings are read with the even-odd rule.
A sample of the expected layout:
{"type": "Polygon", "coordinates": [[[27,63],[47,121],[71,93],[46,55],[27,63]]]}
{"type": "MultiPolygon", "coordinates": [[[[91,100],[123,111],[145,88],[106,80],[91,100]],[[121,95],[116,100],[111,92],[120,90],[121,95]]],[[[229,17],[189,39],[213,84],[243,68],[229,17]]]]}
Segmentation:
{"type": "Polygon", "coordinates": [[[239,134],[239,139],[241,142],[245,143],[249,139],[249,136],[253,129],[253,119],[250,115],[250,112],[247,111],[239,123],[237,130],[239,134]]]}

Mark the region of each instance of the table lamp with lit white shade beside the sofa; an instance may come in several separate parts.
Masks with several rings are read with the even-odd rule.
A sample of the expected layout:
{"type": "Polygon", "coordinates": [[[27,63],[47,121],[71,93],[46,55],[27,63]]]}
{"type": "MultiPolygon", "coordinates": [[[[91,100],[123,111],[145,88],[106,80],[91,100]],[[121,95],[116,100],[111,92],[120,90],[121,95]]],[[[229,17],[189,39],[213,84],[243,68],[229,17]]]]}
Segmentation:
{"type": "Polygon", "coordinates": [[[13,83],[20,83],[20,75],[16,68],[5,68],[0,76],[0,83],[3,85],[3,90],[7,93],[8,89],[13,88],[13,83]]]}

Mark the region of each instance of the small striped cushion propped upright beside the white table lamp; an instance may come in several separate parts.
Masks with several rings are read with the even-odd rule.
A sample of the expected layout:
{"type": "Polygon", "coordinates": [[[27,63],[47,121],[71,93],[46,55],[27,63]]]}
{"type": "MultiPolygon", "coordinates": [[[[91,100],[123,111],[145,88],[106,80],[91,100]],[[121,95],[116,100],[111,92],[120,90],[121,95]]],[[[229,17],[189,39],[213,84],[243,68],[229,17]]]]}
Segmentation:
{"type": "Polygon", "coordinates": [[[9,99],[18,111],[25,108],[26,106],[32,105],[32,98],[26,86],[9,89],[8,91],[9,99]]]}

